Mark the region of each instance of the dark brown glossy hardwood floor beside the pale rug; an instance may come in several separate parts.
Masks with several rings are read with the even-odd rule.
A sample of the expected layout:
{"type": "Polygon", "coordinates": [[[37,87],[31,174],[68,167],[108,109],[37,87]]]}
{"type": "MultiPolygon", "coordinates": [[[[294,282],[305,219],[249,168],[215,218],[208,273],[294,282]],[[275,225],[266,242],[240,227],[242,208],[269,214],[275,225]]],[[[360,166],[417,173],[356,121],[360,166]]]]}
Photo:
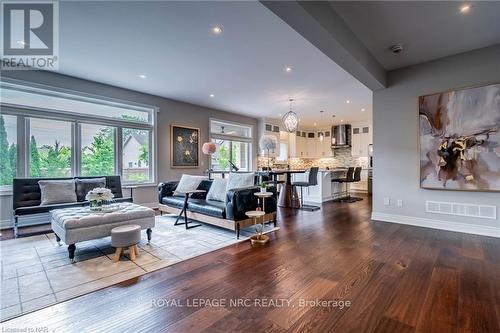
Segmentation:
{"type": "Polygon", "coordinates": [[[240,243],[5,322],[50,332],[500,332],[500,239],[370,220],[368,200],[282,210],[240,243]],[[189,307],[195,299],[289,307],[189,307]],[[183,307],[155,307],[160,299],[183,307]],[[350,306],[301,307],[301,300],[350,306]],[[295,306],[292,306],[295,305],[295,306]]]}

